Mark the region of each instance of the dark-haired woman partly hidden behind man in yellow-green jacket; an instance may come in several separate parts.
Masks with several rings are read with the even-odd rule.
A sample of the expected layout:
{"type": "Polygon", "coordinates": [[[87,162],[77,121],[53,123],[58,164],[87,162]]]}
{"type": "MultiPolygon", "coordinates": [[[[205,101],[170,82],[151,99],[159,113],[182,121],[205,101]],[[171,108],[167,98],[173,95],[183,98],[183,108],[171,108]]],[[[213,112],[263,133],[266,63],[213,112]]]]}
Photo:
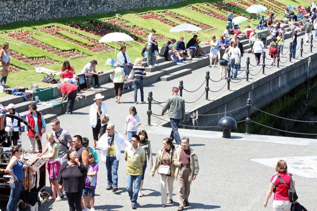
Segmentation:
{"type": "Polygon", "coordinates": [[[153,160],[152,160],[152,149],[151,149],[151,144],[150,141],[148,140],[148,136],[145,130],[141,130],[139,132],[140,136],[140,147],[142,147],[145,151],[145,161],[143,163],[143,172],[142,172],[142,178],[141,178],[141,183],[140,183],[140,189],[139,189],[139,197],[142,197],[142,187],[143,187],[143,181],[144,181],[144,174],[145,174],[145,169],[147,166],[147,161],[150,164],[151,169],[153,168],[153,160]]]}

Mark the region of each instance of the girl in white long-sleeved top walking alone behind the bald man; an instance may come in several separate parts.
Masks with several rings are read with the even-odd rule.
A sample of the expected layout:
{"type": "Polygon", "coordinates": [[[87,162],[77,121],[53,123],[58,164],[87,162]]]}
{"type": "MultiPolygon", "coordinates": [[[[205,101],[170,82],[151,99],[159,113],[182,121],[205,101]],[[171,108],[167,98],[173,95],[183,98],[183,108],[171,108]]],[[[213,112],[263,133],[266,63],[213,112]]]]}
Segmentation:
{"type": "Polygon", "coordinates": [[[129,111],[130,115],[125,120],[124,135],[128,134],[129,142],[131,143],[131,137],[132,135],[137,135],[138,126],[141,125],[141,121],[134,106],[131,106],[129,111]]]}

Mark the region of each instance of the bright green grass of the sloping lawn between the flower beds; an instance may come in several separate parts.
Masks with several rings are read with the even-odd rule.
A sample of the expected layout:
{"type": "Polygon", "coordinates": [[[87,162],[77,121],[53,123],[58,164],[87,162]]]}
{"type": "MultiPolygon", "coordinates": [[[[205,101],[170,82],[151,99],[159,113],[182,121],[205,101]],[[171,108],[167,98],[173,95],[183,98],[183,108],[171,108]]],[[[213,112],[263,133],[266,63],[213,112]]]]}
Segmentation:
{"type": "MultiPolygon", "coordinates": [[[[227,0],[228,1],[228,0],[227,0]]],[[[156,19],[144,19],[140,17],[140,14],[144,13],[154,13],[156,15],[160,15],[161,17],[165,18],[166,20],[169,20],[176,24],[182,24],[183,21],[175,19],[173,17],[170,17],[168,15],[163,14],[163,12],[169,11],[172,12],[178,16],[179,18],[190,18],[192,21],[199,22],[202,24],[207,25],[208,27],[214,28],[213,30],[209,31],[199,31],[195,34],[198,35],[198,38],[200,40],[207,40],[210,39],[211,36],[216,35],[216,37],[219,37],[223,34],[225,25],[227,24],[226,21],[219,20],[217,18],[211,17],[208,14],[203,14],[197,11],[193,11],[188,9],[189,6],[193,8],[197,8],[201,11],[208,12],[209,10],[218,12],[219,14],[223,16],[227,16],[228,11],[233,10],[235,13],[238,13],[241,16],[250,16],[253,18],[256,18],[255,14],[249,14],[246,13],[244,9],[241,8],[247,8],[244,5],[241,5],[241,8],[238,7],[231,7],[227,3],[227,1],[202,1],[202,0],[190,0],[185,1],[182,3],[178,3],[175,5],[170,5],[167,7],[160,7],[160,8],[142,8],[142,9],[135,9],[131,11],[118,11],[116,13],[120,13],[122,15],[122,19],[127,21],[127,23],[124,23],[127,27],[142,27],[144,30],[149,32],[152,28],[156,30],[157,34],[160,34],[166,38],[175,38],[178,40],[180,36],[184,36],[185,33],[170,33],[169,30],[172,28],[171,25],[165,24],[160,20],[156,19]],[[209,5],[206,5],[209,4],[209,5]],[[224,8],[220,11],[220,9],[214,5],[214,3],[223,3],[224,8]],[[201,7],[205,7],[206,10],[204,10],[201,7]],[[215,9],[216,8],[216,9],[215,9]]],[[[235,1],[233,1],[235,2],[235,1]]],[[[241,3],[248,3],[252,4],[247,0],[241,0],[241,3]]],[[[284,4],[284,5],[295,5],[298,6],[297,1],[291,1],[291,0],[256,0],[257,3],[266,5],[268,7],[274,8],[277,12],[277,17],[283,19],[284,14],[284,7],[279,7],[278,3],[284,4]]],[[[305,6],[311,4],[310,0],[304,0],[300,3],[302,5],[302,8],[305,6]]],[[[261,15],[261,14],[260,14],[261,15]]],[[[91,47],[94,46],[94,41],[98,42],[98,40],[101,38],[101,35],[98,34],[100,29],[97,29],[93,25],[87,23],[87,21],[95,21],[96,23],[101,24],[101,26],[111,28],[112,30],[121,31],[126,34],[132,35],[134,37],[138,37],[143,41],[146,41],[146,38],[141,37],[137,34],[133,34],[131,32],[128,32],[126,30],[120,29],[118,27],[114,27],[113,25],[109,25],[102,20],[104,19],[110,19],[116,17],[114,13],[110,14],[97,14],[97,15],[89,15],[89,16],[83,16],[83,17],[70,17],[70,18],[59,18],[59,19],[53,19],[53,20],[37,20],[37,21],[26,21],[26,22],[15,22],[12,24],[7,25],[1,25],[0,26],[0,43],[3,42],[9,42],[10,43],[10,49],[12,51],[18,52],[20,55],[27,57],[28,59],[32,58],[48,58],[53,61],[58,62],[58,64],[53,65],[43,65],[46,68],[57,70],[59,71],[62,62],[64,62],[66,59],[62,56],[58,56],[55,52],[49,52],[48,50],[36,47],[32,44],[28,44],[23,40],[18,40],[14,37],[10,37],[7,34],[4,33],[10,33],[10,32],[17,32],[17,31],[26,31],[33,33],[31,35],[31,38],[34,39],[37,42],[40,42],[42,44],[46,44],[47,46],[56,48],[60,51],[72,51],[77,50],[79,52],[82,52],[82,54],[86,55],[84,58],[75,58],[69,60],[71,65],[74,66],[76,73],[80,73],[83,66],[90,62],[92,59],[96,59],[99,63],[97,66],[97,70],[103,70],[103,71],[109,71],[111,68],[105,66],[105,62],[107,58],[114,58],[115,57],[115,43],[106,43],[107,46],[111,47],[110,52],[103,52],[98,53],[94,50],[92,50],[91,47]],[[80,27],[88,28],[95,33],[89,33],[88,31],[79,30],[77,28],[71,27],[69,24],[74,23],[80,27]],[[65,29],[67,31],[58,31],[57,34],[62,35],[65,37],[65,39],[61,39],[59,37],[53,36],[51,34],[41,32],[40,28],[48,28],[48,27],[58,27],[61,29],[65,29]],[[74,34],[73,34],[74,33],[74,34]],[[71,39],[69,41],[66,40],[71,39]],[[89,38],[90,41],[87,39],[89,38]],[[92,40],[93,39],[93,40],[92,40]],[[80,46],[79,44],[74,43],[73,41],[76,41],[77,43],[84,44],[83,46],[80,46]]],[[[187,22],[191,22],[191,20],[186,20],[187,22]]],[[[247,24],[253,24],[254,26],[257,25],[258,20],[248,20],[247,24]]],[[[241,23],[240,27],[242,28],[242,31],[245,29],[245,23],[241,23]]],[[[192,37],[191,33],[187,33],[187,40],[189,40],[192,37]]],[[[159,46],[162,46],[164,43],[166,43],[167,40],[163,40],[159,42],[159,46]]],[[[144,47],[143,43],[132,41],[125,43],[128,45],[128,54],[132,61],[137,59],[138,57],[141,57],[141,50],[144,47]]],[[[117,49],[120,49],[120,45],[117,45],[117,49]]],[[[117,52],[118,52],[117,50],[117,52]]],[[[14,72],[10,73],[8,77],[8,85],[9,86],[22,86],[22,87],[30,87],[30,84],[38,84],[40,87],[46,87],[49,86],[49,84],[41,83],[40,79],[46,75],[46,74],[38,74],[35,73],[35,68],[32,65],[29,65],[28,63],[15,59],[11,57],[11,64],[22,71],[20,72],[14,72]]],[[[4,94],[0,95],[0,97],[3,97],[4,94]]]]}

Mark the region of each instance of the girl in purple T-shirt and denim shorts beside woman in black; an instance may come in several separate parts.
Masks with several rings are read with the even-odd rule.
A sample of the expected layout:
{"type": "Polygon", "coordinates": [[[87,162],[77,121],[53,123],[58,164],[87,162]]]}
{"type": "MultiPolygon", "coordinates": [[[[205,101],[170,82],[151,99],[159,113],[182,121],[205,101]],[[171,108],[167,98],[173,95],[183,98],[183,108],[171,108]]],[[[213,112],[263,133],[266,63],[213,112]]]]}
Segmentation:
{"type": "Polygon", "coordinates": [[[97,186],[97,173],[98,173],[98,164],[95,162],[95,157],[92,153],[89,153],[89,163],[87,170],[87,178],[85,182],[85,188],[82,192],[82,197],[84,200],[85,209],[87,204],[90,202],[92,208],[90,211],[95,211],[95,190],[97,186]],[[89,196],[88,196],[89,193],[89,196]]]}

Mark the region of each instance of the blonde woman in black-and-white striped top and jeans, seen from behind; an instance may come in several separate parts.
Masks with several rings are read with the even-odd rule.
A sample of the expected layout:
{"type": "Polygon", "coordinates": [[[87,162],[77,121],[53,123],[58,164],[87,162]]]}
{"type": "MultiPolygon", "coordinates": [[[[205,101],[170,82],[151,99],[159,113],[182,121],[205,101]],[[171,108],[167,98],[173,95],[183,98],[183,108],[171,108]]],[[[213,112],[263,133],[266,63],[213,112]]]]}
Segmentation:
{"type": "Polygon", "coordinates": [[[144,93],[143,93],[143,78],[144,78],[144,75],[146,75],[146,72],[142,65],[142,60],[140,58],[135,60],[132,71],[134,71],[134,77],[133,77],[134,104],[138,104],[138,88],[140,88],[140,92],[141,92],[141,103],[145,103],[144,93]]]}

